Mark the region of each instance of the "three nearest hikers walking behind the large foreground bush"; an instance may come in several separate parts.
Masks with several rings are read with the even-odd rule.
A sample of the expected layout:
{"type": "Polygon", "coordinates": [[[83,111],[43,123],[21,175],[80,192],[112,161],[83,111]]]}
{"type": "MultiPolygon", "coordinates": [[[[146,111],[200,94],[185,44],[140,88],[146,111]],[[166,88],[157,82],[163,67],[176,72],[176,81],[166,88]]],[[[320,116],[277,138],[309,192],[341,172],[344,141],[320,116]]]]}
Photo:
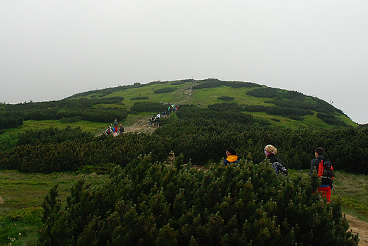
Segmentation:
{"type": "MultiPolygon", "coordinates": [[[[277,148],[268,144],[265,146],[263,152],[265,153],[266,158],[270,161],[272,168],[275,169],[277,175],[287,176],[287,168],[284,167],[284,163],[280,158],[276,157],[277,148]]],[[[226,159],[224,160],[224,165],[227,168],[227,165],[230,163],[238,163],[238,156],[236,155],[236,151],[234,148],[226,148],[226,159]]],[[[325,150],[321,147],[318,147],[314,150],[315,158],[311,160],[311,168],[309,170],[309,177],[313,174],[314,170],[316,170],[318,177],[321,177],[321,184],[318,187],[316,192],[320,193],[322,197],[326,196],[328,202],[330,202],[331,197],[331,187],[333,183],[333,167],[331,165],[330,160],[326,159],[323,155],[325,154],[325,150]]],[[[316,193],[315,192],[315,193],[316,193]]]]}

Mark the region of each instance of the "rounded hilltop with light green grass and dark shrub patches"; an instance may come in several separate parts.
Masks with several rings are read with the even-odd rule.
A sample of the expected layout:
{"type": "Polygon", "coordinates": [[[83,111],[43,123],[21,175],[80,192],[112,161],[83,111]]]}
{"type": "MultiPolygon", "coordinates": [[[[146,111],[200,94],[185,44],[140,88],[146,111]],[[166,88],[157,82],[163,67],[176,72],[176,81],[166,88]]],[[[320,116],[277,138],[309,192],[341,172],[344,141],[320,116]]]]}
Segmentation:
{"type": "Polygon", "coordinates": [[[341,110],[318,98],[256,83],[219,81],[215,78],[200,81],[187,79],[155,81],[147,84],[134,83],[132,86],[91,90],[66,99],[117,97],[124,98],[124,106],[101,103],[93,107],[115,106],[129,110],[137,102],[170,102],[175,105],[195,105],[197,107],[230,102],[244,106],[242,112],[265,119],[270,124],[277,126],[323,128],[357,126],[341,110]],[[251,107],[254,105],[259,107],[251,107]]]}

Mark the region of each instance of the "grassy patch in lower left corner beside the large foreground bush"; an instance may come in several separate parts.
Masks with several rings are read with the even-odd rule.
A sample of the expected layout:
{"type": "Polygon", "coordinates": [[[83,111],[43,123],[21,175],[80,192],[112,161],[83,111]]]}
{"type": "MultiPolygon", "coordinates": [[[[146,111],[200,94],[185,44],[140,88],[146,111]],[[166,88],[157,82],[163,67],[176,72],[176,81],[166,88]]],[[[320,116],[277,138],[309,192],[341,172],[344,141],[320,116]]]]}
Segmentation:
{"type": "MultiPolygon", "coordinates": [[[[86,182],[100,185],[108,175],[85,175],[86,182]]],[[[38,228],[42,224],[42,201],[59,184],[59,198],[67,201],[70,188],[81,175],[55,173],[24,174],[17,171],[0,172],[0,245],[36,245],[38,228]]]]}

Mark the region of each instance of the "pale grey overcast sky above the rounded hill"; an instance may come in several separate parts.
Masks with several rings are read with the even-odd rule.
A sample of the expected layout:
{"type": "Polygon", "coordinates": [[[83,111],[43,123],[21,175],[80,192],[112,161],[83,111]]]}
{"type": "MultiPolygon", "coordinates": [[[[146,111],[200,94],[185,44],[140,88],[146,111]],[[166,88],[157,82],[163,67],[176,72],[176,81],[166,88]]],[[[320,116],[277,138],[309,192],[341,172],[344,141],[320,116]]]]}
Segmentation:
{"type": "Polygon", "coordinates": [[[0,102],[185,78],[315,95],[368,123],[367,0],[3,0],[0,102]]]}

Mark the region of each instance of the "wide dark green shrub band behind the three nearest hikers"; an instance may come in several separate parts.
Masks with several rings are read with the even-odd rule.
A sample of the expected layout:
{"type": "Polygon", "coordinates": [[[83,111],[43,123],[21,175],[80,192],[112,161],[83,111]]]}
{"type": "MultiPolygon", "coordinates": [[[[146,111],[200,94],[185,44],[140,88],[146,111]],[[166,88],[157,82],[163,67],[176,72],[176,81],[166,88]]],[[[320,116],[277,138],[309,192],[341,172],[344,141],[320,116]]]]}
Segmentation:
{"type": "MultiPolygon", "coordinates": [[[[177,114],[185,112],[184,108],[177,114]]],[[[218,113],[219,117],[224,115],[224,112],[218,113]]],[[[202,119],[200,114],[188,115],[188,118],[179,118],[165,124],[153,134],[122,134],[117,137],[103,135],[91,138],[88,135],[82,137],[76,131],[75,136],[78,137],[71,134],[68,138],[64,137],[62,142],[56,142],[50,141],[56,138],[50,131],[42,134],[32,131],[20,138],[35,140],[0,152],[0,169],[50,173],[81,170],[85,165],[97,167],[104,163],[125,166],[137,155],[150,152],[154,161],[163,161],[170,151],[183,153],[185,162],[191,158],[193,164],[206,165],[209,160],[219,161],[225,157],[224,150],[229,146],[236,148],[238,156],[248,156],[248,159],[259,163],[265,158],[263,148],[267,144],[273,144],[279,150],[277,156],[284,161],[287,168],[309,169],[310,160],[314,158],[314,149],[321,146],[326,149],[326,157],[333,160],[336,170],[368,174],[367,127],[284,129],[260,127],[255,123],[238,124],[231,122],[233,118],[202,119]],[[45,135],[46,133],[50,136],[45,135]],[[30,136],[32,134],[33,137],[30,136]]],[[[58,138],[63,139],[59,136],[58,138]]]]}

